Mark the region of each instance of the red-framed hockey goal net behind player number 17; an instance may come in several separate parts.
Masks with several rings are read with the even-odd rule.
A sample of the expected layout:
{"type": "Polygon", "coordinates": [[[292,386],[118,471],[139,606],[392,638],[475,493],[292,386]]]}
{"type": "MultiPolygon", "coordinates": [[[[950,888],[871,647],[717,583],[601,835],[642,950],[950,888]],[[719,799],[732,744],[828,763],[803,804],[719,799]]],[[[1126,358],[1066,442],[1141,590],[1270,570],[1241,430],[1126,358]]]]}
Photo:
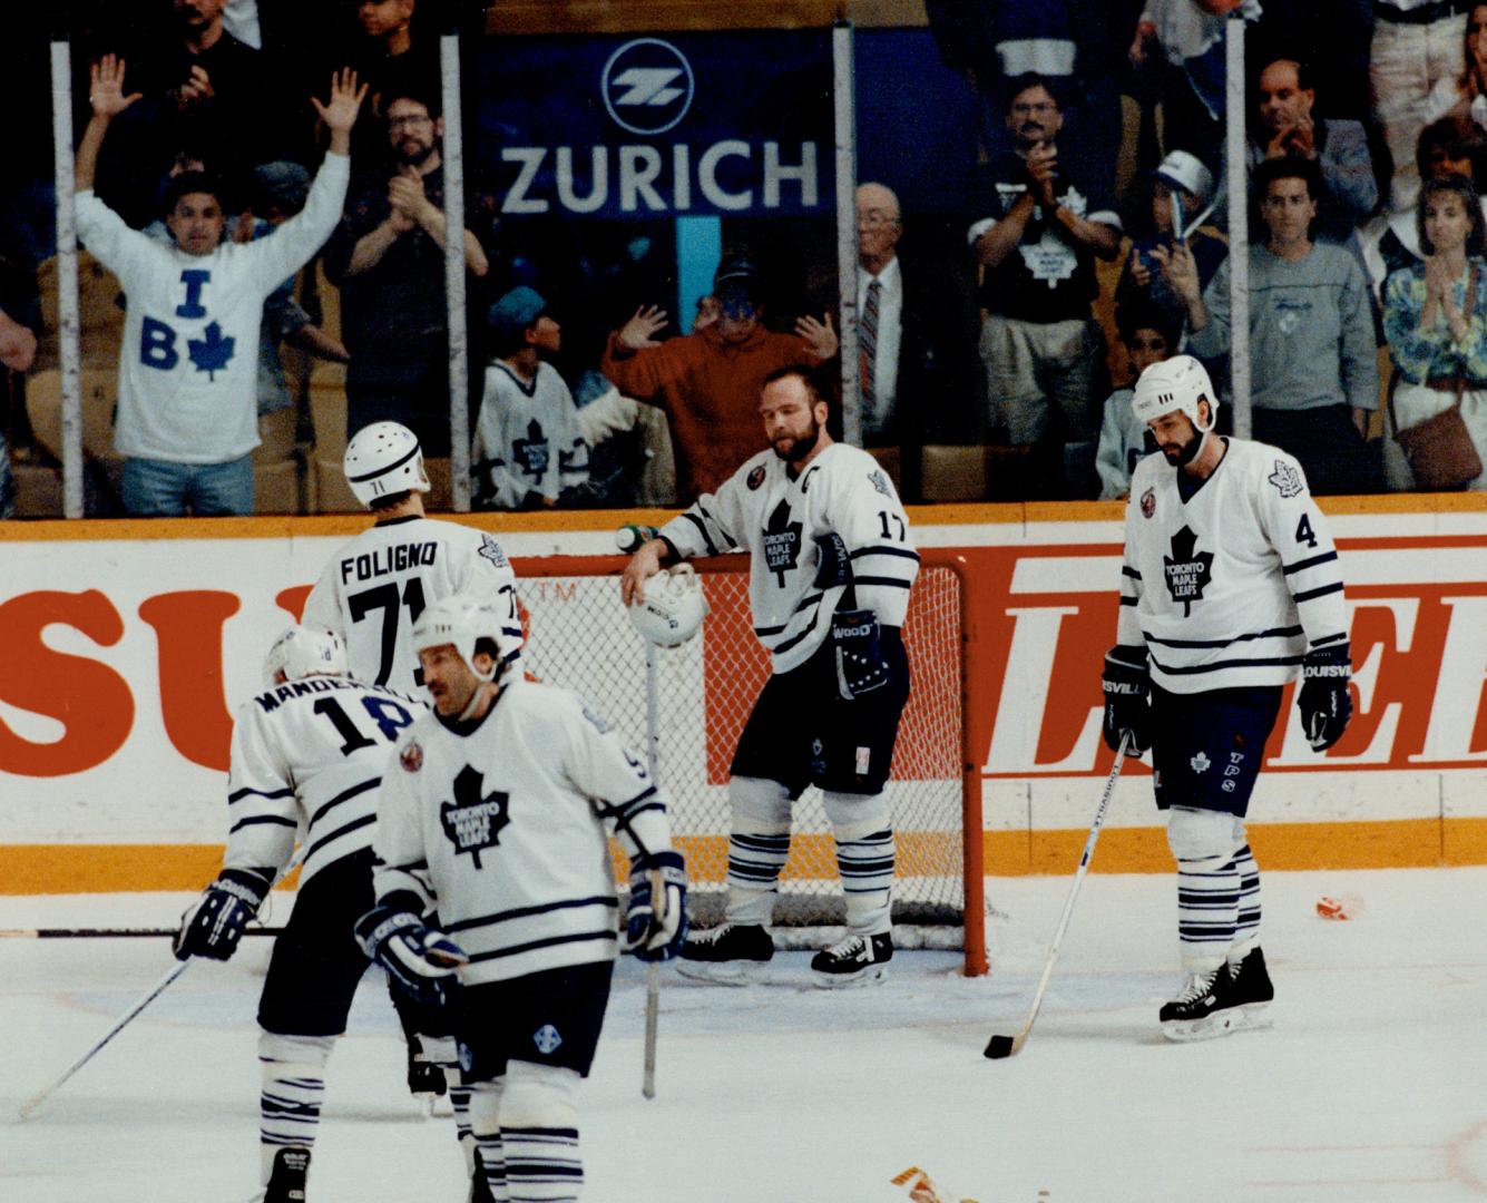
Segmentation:
{"type": "MultiPolygon", "coordinates": [[[[950,552],[920,553],[904,625],[912,691],[886,787],[897,842],[894,938],[964,947],[986,971],[980,773],[967,755],[965,578],[950,552]]],[[[623,556],[516,561],[526,671],[578,691],[632,746],[654,757],[687,855],[696,926],[721,922],[729,846],[729,763],[769,677],[754,636],[748,559],[693,561],[709,604],[699,638],[641,639],[619,599],[623,556]]],[[[845,919],[836,845],[819,790],[796,803],[790,861],[775,907],[776,943],[819,947],[845,919]]]]}

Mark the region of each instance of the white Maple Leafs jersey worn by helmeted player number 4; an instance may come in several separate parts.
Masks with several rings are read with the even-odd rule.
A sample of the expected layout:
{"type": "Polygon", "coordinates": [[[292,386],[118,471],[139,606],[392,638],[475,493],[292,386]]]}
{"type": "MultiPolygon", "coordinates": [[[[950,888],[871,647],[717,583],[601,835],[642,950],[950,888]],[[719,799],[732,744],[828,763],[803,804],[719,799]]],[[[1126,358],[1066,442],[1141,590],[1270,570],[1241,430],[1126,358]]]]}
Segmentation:
{"type": "Polygon", "coordinates": [[[1301,465],[1225,442],[1187,501],[1164,457],[1132,473],[1117,641],[1145,647],[1173,693],[1285,684],[1309,645],[1347,638],[1341,565],[1301,465]]]}

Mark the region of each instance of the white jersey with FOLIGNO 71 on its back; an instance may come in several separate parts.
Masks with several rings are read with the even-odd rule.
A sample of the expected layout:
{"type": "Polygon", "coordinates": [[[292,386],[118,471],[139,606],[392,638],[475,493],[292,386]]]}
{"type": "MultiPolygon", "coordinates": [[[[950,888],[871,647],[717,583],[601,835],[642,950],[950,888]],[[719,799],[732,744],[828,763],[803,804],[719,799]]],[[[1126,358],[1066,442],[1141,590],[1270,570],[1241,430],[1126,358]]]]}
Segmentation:
{"type": "Polygon", "coordinates": [[[506,607],[517,644],[512,562],[485,531],[433,517],[393,517],[336,552],[305,601],[305,626],[335,630],[351,675],[400,690],[422,687],[413,623],[452,593],[477,593],[506,607]]]}

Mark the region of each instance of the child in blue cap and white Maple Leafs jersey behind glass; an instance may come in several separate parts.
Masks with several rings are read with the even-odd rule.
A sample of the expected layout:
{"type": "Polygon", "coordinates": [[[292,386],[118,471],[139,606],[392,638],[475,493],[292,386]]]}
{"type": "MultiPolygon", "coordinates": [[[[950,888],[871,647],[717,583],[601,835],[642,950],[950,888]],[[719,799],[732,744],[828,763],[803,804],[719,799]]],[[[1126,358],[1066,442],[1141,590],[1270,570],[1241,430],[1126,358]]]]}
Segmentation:
{"type": "Polygon", "coordinates": [[[614,388],[583,409],[574,403],[558,369],[544,361],[562,349],[562,327],[535,288],[509,291],[488,321],[492,358],[470,452],[474,507],[595,504],[602,482],[590,479],[590,454],[633,430],[639,404],[614,388]]]}

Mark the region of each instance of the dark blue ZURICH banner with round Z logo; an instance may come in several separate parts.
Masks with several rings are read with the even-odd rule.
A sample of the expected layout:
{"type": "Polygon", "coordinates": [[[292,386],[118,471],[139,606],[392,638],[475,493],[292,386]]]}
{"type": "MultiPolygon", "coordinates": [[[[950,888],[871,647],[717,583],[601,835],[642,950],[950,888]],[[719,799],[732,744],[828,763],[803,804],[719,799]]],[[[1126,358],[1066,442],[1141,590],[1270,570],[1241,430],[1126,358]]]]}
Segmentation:
{"type": "Polygon", "coordinates": [[[476,158],[509,216],[833,213],[831,34],[507,37],[476,158]]]}

